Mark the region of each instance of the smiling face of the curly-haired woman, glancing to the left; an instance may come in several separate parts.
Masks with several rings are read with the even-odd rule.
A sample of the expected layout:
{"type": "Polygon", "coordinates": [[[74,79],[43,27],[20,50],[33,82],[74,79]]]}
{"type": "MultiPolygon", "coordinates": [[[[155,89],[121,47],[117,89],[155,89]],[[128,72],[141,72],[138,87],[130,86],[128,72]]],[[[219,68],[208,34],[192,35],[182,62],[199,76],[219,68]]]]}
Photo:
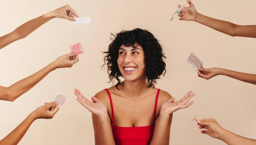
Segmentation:
{"type": "Polygon", "coordinates": [[[140,45],[120,46],[117,64],[126,81],[136,81],[145,78],[144,51],[140,45]]]}

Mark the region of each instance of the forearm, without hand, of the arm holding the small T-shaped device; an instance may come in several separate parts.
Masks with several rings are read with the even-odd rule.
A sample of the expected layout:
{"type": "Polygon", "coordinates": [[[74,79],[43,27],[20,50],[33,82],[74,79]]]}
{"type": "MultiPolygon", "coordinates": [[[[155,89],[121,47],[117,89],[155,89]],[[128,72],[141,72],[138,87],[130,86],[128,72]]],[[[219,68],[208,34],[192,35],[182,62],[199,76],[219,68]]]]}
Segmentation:
{"type": "Polygon", "coordinates": [[[219,139],[228,145],[256,145],[256,140],[248,139],[226,130],[221,133],[219,139]]]}

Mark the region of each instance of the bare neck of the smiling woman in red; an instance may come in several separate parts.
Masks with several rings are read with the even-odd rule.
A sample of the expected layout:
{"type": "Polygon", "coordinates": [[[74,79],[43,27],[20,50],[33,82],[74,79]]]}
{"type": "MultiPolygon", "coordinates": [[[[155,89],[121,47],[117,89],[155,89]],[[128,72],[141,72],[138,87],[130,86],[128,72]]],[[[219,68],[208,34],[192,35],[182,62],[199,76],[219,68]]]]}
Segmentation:
{"type": "Polygon", "coordinates": [[[129,98],[139,98],[147,89],[149,89],[146,79],[137,81],[122,81],[120,84],[120,90],[123,94],[129,98]]]}

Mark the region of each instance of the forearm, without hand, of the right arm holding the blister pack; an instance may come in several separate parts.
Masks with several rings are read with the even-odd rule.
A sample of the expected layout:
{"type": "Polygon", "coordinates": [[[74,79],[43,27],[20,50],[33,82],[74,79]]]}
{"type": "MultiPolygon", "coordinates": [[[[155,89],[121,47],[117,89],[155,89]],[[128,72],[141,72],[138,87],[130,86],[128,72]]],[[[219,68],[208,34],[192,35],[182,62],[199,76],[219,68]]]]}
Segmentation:
{"type": "Polygon", "coordinates": [[[256,74],[240,73],[233,70],[226,70],[220,68],[220,75],[226,75],[230,78],[235,78],[239,81],[244,81],[250,84],[256,84],[256,74]]]}

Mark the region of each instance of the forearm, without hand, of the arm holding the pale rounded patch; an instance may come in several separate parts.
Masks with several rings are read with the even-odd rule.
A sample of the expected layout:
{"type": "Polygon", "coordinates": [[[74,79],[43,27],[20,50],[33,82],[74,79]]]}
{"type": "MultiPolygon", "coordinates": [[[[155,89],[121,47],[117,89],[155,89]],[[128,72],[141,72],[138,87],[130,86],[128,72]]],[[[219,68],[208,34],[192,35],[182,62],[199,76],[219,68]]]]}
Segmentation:
{"type": "Polygon", "coordinates": [[[20,123],[11,133],[0,141],[0,145],[17,145],[29,129],[30,125],[35,121],[35,116],[31,113],[20,123]]]}

